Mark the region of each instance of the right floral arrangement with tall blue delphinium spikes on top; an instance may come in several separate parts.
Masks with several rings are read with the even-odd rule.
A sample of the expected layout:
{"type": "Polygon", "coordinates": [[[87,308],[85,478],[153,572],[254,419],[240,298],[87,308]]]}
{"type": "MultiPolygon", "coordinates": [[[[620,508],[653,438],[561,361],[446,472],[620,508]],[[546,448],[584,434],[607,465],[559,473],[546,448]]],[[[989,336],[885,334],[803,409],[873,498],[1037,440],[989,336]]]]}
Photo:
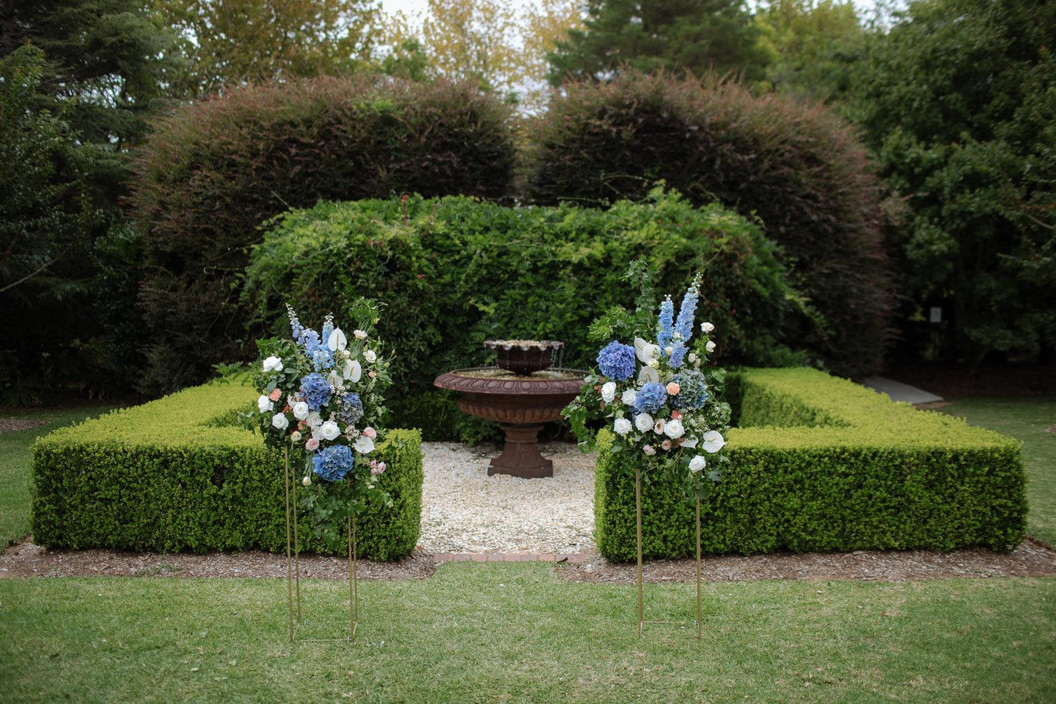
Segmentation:
{"type": "Polygon", "coordinates": [[[709,364],[715,326],[694,321],[700,277],[686,289],[677,318],[671,296],[657,315],[653,277],[642,262],[630,265],[626,279],[641,287],[637,310],[612,308],[593,322],[590,337],[610,341],[564,415],[586,449],[595,445],[593,427],[606,424],[616,438],[612,452],[633,458],[625,465],[682,473],[692,495],[703,496],[704,479],[718,481],[729,461],[730,405],[721,395],[725,372],[709,364]]]}

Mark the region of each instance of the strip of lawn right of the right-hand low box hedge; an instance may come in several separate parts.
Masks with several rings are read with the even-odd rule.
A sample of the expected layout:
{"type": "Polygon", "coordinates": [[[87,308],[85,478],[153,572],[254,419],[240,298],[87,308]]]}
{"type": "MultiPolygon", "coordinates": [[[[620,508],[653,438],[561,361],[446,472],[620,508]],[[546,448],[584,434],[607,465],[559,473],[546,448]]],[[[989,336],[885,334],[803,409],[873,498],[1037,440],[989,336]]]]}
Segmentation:
{"type": "Polygon", "coordinates": [[[966,398],[942,411],[1023,442],[1027,532],[1056,546],[1056,433],[1048,432],[1056,425],[1056,398],[966,398]]]}

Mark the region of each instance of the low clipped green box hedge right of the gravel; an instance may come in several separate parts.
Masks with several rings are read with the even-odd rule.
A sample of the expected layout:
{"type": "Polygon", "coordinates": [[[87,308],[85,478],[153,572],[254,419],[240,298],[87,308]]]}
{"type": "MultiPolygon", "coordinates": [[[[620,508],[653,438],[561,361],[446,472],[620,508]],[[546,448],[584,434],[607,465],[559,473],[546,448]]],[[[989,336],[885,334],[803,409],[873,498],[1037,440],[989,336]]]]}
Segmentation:
{"type": "MultiPolygon", "coordinates": [[[[741,369],[728,380],[738,427],[702,506],[705,553],[1004,550],[1022,539],[1016,440],[814,369],[741,369]]],[[[599,436],[596,538],[607,558],[630,560],[634,467],[606,450],[611,439],[599,436]]],[[[681,487],[643,486],[643,555],[692,555],[695,537],[681,487]]]]}

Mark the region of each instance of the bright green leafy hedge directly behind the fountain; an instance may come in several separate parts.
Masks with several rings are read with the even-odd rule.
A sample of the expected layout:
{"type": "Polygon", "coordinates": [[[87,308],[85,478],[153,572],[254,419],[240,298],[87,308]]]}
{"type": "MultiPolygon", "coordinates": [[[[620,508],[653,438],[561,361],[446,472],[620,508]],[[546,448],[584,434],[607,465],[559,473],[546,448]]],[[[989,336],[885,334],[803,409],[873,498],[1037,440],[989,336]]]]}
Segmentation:
{"type": "Polygon", "coordinates": [[[637,256],[655,265],[662,290],[704,272],[699,315],[715,323],[723,360],[789,358],[778,338],[794,291],[773,245],[736,213],[671,193],[609,210],[468,197],[319,204],[285,214],[253,249],[245,296],[276,334],[287,301],[305,320],[356,296],[384,302],[377,327],[396,355],[393,422],[427,439],[474,439],[494,424],[467,417],[433,379],[484,363],[489,338],[563,340],[566,366],[591,364],[587,329],[606,308],[634,303],[622,275],[637,256]]]}

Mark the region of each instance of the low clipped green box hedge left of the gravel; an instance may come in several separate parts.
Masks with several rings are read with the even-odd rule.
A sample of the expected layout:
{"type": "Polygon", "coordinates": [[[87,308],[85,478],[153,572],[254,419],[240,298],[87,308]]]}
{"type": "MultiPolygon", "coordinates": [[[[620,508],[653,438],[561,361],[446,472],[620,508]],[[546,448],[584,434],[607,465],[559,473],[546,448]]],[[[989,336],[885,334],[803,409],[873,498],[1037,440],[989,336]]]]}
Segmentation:
{"type": "MultiPolygon", "coordinates": [[[[234,424],[256,396],[238,381],[213,382],[41,438],[33,460],[34,540],[158,552],[285,550],[282,455],[234,424]]],[[[394,507],[367,509],[358,548],[363,557],[396,559],[420,533],[419,432],[388,431],[377,457],[388,465],[380,483],[394,507]]],[[[300,536],[303,551],[327,552],[304,517],[300,536]]]]}

